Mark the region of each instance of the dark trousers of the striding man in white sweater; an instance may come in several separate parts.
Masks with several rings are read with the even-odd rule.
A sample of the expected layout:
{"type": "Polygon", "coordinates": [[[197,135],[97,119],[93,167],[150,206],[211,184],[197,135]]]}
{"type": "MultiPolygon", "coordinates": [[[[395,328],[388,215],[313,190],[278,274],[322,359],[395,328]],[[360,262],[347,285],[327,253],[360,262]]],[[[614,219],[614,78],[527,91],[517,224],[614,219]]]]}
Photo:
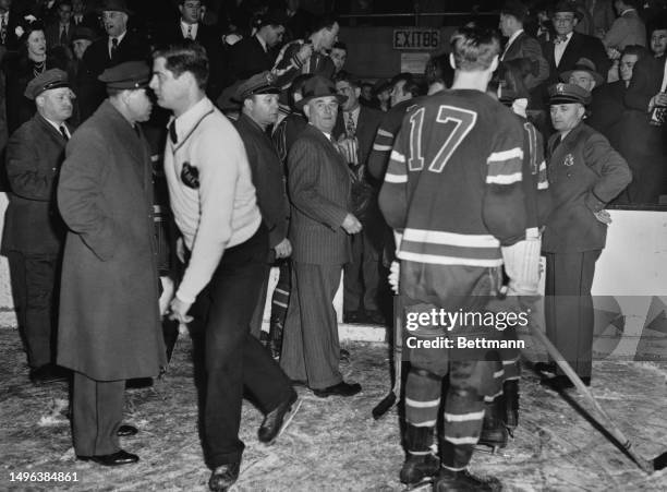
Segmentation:
{"type": "Polygon", "coordinates": [[[241,460],[244,386],[265,412],[293,392],[289,379],[248,329],[267,250],[267,231],[260,226],[251,239],[225,251],[194,308],[205,324],[204,434],[211,468],[241,460]]]}

